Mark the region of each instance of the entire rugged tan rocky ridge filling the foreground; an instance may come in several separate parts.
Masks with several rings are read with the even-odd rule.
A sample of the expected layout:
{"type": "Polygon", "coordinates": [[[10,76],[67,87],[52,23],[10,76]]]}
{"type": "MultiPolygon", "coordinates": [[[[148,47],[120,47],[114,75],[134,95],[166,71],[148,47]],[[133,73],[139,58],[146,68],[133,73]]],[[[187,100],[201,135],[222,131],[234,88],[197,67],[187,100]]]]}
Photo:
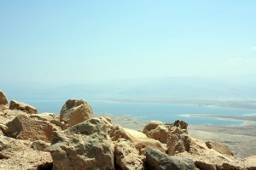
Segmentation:
{"type": "Polygon", "coordinates": [[[69,99],[60,116],[40,113],[0,91],[0,169],[256,169],[224,144],[189,136],[188,124],[148,122],[143,132],[95,117],[69,99]]]}

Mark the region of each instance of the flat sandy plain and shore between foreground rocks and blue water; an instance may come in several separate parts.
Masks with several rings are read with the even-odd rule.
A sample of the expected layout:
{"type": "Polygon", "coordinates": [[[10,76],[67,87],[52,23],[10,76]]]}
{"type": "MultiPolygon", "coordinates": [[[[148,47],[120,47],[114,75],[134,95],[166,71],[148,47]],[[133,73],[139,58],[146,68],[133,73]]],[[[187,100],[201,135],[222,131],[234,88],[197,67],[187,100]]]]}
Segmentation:
{"type": "MultiPolygon", "coordinates": [[[[142,131],[149,122],[137,120],[132,116],[97,116],[110,116],[113,123],[138,131],[142,131]]],[[[195,139],[217,141],[229,146],[239,158],[256,155],[256,150],[252,150],[256,148],[256,116],[255,121],[247,120],[239,126],[189,125],[188,131],[189,135],[195,139]]]]}

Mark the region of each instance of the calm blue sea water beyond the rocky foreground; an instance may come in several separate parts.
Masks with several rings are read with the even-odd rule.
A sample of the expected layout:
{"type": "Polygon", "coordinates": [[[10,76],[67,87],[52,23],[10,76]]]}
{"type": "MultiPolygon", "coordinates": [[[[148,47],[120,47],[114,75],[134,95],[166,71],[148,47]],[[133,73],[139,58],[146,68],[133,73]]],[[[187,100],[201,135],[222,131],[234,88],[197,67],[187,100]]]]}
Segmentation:
{"type": "MultiPolygon", "coordinates": [[[[33,101],[39,112],[59,114],[65,101],[33,101]]],[[[113,103],[89,101],[96,115],[131,116],[142,121],[159,120],[174,122],[183,120],[189,124],[200,125],[241,125],[243,121],[219,119],[214,116],[244,116],[255,114],[255,110],[209,107],[207,105],[185,105],[167,103],[113,103]],[[193,116],[211,115],[211,116],[193,116]]]]}

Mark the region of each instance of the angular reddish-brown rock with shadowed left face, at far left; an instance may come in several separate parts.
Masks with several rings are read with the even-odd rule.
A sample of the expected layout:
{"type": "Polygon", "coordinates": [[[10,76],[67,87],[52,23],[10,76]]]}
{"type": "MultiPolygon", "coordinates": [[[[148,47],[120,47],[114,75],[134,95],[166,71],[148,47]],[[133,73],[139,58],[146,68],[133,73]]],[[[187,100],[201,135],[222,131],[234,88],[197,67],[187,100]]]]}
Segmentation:
{"type": "Polygon", "coordinates": [[[25,115],[16,116],[6,126],[9,128],[10,136],[16,139],[44,140],[50,142],[52,134],[56,130],[49,122],[33,120],[25,115]]]}

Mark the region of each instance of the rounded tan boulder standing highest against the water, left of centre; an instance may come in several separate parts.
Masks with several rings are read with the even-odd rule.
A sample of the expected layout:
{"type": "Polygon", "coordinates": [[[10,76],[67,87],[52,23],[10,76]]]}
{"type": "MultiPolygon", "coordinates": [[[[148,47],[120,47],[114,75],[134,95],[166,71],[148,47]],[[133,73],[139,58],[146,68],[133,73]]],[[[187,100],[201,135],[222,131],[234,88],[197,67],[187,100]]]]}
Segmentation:
{"type": "Polygon", "coordinates": [[[82,99],[68,99],[60,113],[61,121],[71,126],[84,122],[92,116],[91,106],[82,99]]]}

